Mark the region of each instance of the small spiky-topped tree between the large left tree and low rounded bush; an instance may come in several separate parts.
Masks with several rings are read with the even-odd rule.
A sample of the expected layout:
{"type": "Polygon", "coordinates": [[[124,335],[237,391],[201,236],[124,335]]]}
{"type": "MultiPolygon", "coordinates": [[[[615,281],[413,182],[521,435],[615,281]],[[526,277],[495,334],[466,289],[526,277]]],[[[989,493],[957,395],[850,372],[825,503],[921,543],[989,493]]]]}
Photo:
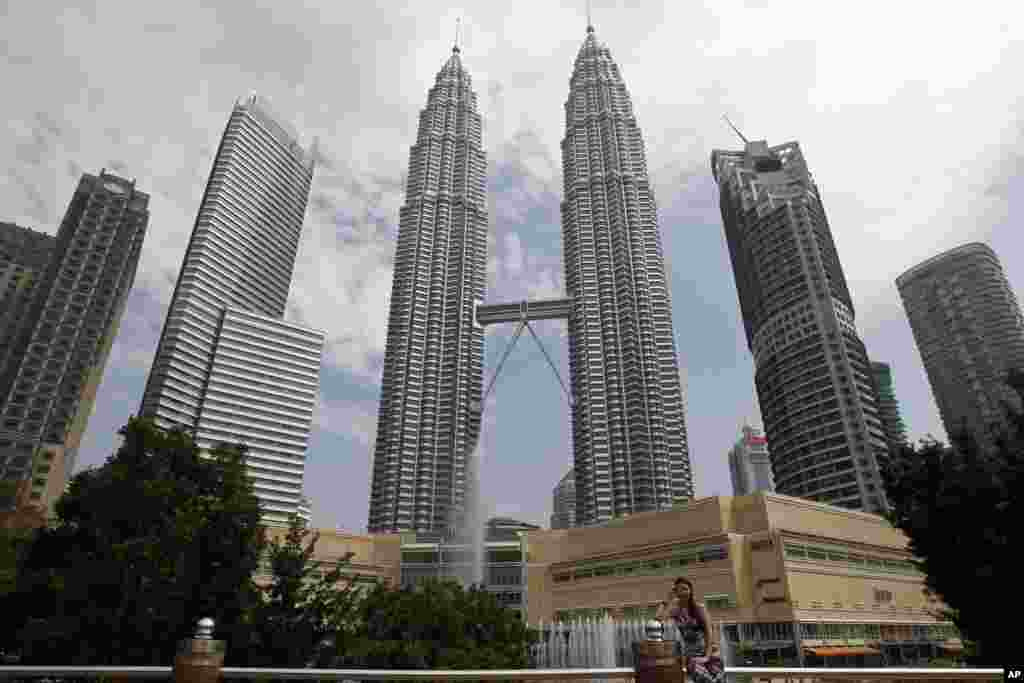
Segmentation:
{"type": "Polygon", "coordinates": [[[313,560],[318,541],[319,533],[309,531],[296,515],[284,543],[270,542],[266,551],[270,585],[263,589],[253,611],[249,641],[228,651],[229,665],[304,667],[327,654],[323,643],[344,640],[352,628],[358,598],[356,578],[346,579],[343,567],[354,553],[347,553],[325,572],[313,560]]]}

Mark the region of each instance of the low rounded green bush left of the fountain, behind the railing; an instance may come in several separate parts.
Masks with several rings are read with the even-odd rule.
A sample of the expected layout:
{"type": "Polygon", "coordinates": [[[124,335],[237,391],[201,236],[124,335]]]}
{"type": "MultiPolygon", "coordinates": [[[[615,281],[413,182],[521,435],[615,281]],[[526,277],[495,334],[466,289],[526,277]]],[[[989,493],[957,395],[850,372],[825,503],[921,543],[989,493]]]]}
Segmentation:
{"type": "Polygon", "coordinates": [[[537,634],[490,593],[451,580],[372,589],[340,666],[370,669],[524,669],[537,634]]]}

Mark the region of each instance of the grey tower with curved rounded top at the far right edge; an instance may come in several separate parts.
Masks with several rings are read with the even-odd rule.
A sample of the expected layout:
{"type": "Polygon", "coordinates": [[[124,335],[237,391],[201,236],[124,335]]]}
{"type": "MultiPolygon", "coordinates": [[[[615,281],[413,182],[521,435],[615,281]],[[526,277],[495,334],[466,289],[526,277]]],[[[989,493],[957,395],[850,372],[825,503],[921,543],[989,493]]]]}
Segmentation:
{"type": "Polygon", "coordinates": [[[982,444],[1019,408],[1007,371],[1024,369],[1024,322],[998,258],[972,243],[896,279],[946,433],[965,426],[982,444]]]}

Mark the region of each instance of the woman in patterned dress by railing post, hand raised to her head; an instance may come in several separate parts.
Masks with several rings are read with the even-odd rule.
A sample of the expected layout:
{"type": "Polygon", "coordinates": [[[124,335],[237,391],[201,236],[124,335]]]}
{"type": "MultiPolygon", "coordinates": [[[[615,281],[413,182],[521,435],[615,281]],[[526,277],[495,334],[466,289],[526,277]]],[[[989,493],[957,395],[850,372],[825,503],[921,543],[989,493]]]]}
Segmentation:
{"type": "Polygon", "coordinates": [[[679,628],[690,681],[721,683],[725,679],[718,636],[708,610],[694,599],[693,584],[682,577],[677,579],[669,599],[658,605],[654,618],[659,622],[673,620],[679,628]]]}

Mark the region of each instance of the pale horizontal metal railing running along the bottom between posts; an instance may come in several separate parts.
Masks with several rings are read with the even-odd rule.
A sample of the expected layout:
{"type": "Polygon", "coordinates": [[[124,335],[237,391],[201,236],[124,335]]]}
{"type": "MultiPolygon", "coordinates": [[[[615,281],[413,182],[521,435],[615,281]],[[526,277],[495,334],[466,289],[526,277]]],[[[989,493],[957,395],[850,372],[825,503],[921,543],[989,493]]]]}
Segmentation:
{"type": "MultiPolygon", "coordinates": [[[[169,679],[172,667],[0,667],[0,680],[66,678],[169,679]]],[[[396,669],[258,669],[224,667],[225,679],[321,681],[570,681],[615,679],[632,681],[631,668],[510,669],[510,670],[396,670],[396,669]]],[[[731,667],[730,681],[1002,681],[1001,669],[784,669],[731,667]]]]}

